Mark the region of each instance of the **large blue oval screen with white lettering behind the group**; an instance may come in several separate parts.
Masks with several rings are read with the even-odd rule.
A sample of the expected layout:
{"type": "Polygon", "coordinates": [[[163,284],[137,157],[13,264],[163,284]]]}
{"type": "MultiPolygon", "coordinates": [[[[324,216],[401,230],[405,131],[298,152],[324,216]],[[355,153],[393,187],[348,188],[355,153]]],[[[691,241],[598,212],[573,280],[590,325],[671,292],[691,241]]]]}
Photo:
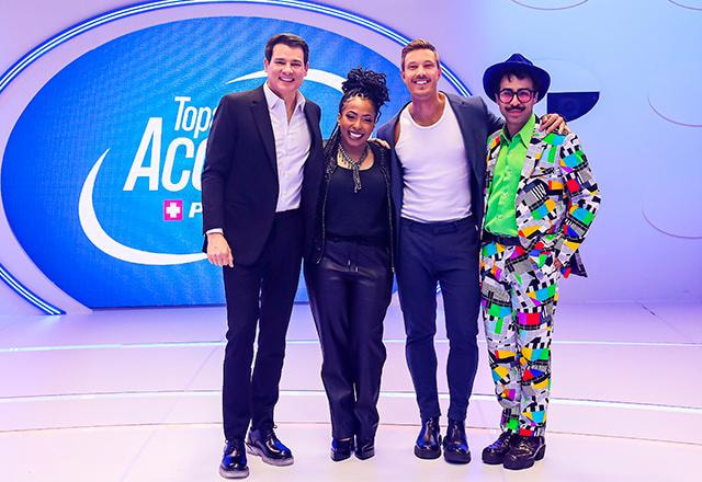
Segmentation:
{"type": "Polygon", "coordinates": [[[201,251],[206,139],[219,99],[263,82],[263,47],[278,32],[309,43],[301,90],[321,106],[322,135],[359,65],[387,74],[381,122],[406,102],[398,68],[371,48],[272,19],[177,21],[84,54],[30,102],[2,162],[10,226],[59,288],[93,308],[224,301],[201,251]]]}

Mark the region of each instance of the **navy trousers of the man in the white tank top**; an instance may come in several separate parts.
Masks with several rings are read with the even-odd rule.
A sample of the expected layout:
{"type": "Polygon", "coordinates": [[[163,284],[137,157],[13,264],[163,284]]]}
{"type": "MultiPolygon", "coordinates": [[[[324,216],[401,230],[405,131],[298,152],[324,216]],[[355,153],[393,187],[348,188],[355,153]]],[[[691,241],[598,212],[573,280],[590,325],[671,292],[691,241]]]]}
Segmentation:
{"type": "Polygon", "coordinates": [[[437,389],[437,283],[449,336],[449,417],[464,421],[478,362],[479,237],[475,218],[401,220],[397,286],[407,334],[407,365],[422,420],[441,415],[437,389]]]}

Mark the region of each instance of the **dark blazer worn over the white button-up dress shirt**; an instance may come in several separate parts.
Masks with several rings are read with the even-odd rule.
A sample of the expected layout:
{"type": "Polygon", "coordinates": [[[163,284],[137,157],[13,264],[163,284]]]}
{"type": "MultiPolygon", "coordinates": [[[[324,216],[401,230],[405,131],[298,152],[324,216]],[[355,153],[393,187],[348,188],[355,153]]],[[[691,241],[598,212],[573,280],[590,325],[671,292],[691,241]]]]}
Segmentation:
{"type": "MultiPolygon", "coordinates": [[[[321,111],[306,100],[304,112],[312,137],[301,200],[307,250],[324,167],[321,111]]],[[[202,172],[203,232],[223,228],[235,263],[252,264],[271,232],[278,195],[275,139],[263,85],[225,95],[210,129],[202,172]]]]}

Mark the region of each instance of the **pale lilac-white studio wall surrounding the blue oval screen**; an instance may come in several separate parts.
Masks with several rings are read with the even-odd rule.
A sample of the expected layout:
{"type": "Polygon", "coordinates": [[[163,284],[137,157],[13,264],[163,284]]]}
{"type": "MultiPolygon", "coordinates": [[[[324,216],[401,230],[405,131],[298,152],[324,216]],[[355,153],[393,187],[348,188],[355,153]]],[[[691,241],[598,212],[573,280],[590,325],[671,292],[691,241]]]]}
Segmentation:
{"type": "MultiPolygon", "coordinates": [[[[0,16],[2,71],[57,32],[134,2],[12,3],[0,16]]],[[[564,300],[702,299],[702,96],[695,91],[702,73],[702,2],[324,3],[430,39],[477,94],[483,94],[485,68],[513,51],[551,71],[552,91],[599,91],[595,108],[571,123],[603,193],[584,249],[591,276],[564,283],[564,300]]],[[[15,82],[32,80],[25,76],[15,82]]],[[[0,94],[0,112],[12,102],[8,93],[0,94]]],[[[11,264],[5,248],[14,241],[9,236],[0,239],[0,264],[11,264]]],[[[35,273],[14,274],[32,288],[50,291],[50,282],[33,279],[35,273]]],[[[34,312],[4,285],[0,306],[0,313],[34,312]]]]}

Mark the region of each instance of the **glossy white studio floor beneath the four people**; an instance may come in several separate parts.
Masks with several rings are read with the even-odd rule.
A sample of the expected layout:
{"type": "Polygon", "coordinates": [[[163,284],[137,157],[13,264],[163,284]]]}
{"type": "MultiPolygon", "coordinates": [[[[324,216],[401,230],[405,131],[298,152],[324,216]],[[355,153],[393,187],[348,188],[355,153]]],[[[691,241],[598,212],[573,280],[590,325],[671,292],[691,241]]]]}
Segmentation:
{"type": "MultiPolygon", "coordinates": [[[[412,456],[418,415],[397,300],[386,320],[377,455],[331,462],[319,345],[308,307],[296,306],[276,411],[296,461],[251,459],[250,479],[699,480],[701,321],[702,305],[563,305],[546,458],[507,472],[479,461],[499,415],[485,353],[468,410],[474,460],[412,456]]],[[[0,481],[219,480],[224,326],[223,308],[0,317],[0,481]]],[[[439,382],[446,403],[443,370],[439,382]]]]}

